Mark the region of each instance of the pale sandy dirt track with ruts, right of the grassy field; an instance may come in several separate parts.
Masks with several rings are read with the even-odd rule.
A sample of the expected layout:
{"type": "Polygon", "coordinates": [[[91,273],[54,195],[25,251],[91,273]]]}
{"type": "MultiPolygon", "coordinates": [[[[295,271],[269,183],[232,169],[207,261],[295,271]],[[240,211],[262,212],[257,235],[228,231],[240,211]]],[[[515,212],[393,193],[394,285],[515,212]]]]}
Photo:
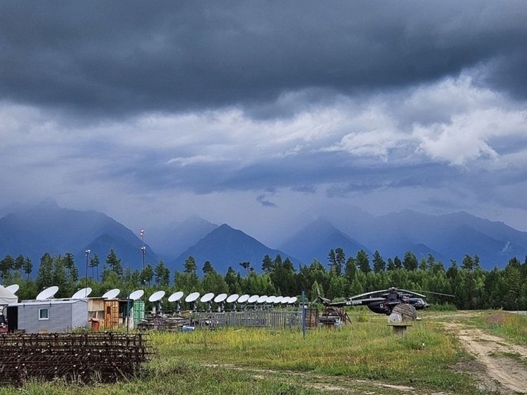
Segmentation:
{"type": "Polygon", "coordinates": [[[510,344],[503,338],[481,329],[458,323],[445,323],[445,328],[460,339],[483,369],[471,369],[491,391],[527,394],[527,348],[510,344]]]}

